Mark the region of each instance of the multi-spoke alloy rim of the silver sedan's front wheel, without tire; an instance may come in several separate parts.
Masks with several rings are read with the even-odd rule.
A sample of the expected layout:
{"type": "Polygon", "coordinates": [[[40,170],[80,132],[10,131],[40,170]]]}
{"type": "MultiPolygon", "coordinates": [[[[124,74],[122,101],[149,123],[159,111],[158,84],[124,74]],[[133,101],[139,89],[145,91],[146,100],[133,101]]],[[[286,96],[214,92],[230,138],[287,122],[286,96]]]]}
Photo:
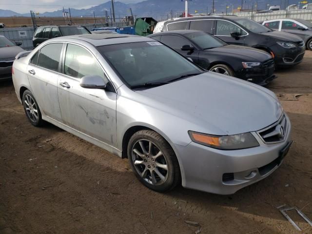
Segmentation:
{"type": "Polygon", "coordinates": [[[168,164],[161,150],[150,140],[138,140],[132,148],[137,173],[150,184],[161,185],[168,178],[168,164]]]}

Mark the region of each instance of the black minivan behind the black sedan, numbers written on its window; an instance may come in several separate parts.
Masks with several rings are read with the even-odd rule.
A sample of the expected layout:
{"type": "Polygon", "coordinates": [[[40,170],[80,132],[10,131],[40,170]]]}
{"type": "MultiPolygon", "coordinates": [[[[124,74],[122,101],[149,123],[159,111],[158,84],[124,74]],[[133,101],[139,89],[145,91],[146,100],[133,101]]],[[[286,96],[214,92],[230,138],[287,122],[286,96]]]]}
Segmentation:
{"type": "MultiPolygon", "coordinates": [[[[179,18],[158,22],[156,29],[158,31],[183,29],[205,31],[228,44],[264,50],[272,55],[276,65],[298,64],[305,53],[305,43],[301,38],[285,32],[276,32],[254,20],[235,16],[179,18]]],[[[154,33],[158,31],[154,30],[154,33]]]]}

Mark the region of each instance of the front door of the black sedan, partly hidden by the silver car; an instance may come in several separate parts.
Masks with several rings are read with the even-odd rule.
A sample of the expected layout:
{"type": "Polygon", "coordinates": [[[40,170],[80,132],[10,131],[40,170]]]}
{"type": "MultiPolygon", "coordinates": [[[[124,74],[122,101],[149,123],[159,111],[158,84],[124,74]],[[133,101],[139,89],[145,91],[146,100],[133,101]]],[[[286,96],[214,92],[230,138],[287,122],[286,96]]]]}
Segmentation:
{"type": "Polygon", "coordinates": [[[172,49],[176,50],[176,52],[184,55],[187,58],[191,58],[195,63],[198,62],[198,50],[194,49],[193,51],[183,51],[181,47],[183,45],[192,45],[192,42],[188,39],[182,38],[176,35],[161,35],[161,42],[165,45],[171,47],[172,49]]]}

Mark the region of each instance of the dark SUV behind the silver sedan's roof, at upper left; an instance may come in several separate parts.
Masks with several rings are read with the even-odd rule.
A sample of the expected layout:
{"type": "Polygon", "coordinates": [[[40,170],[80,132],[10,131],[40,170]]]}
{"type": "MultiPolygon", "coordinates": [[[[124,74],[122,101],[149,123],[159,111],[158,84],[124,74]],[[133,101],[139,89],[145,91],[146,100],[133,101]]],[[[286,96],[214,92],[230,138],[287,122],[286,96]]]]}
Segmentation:
{"type": "Polygon", "coordinates": [[[62,36],[91,34],[90,31],[83,26],[76,25],[42,25],[39,26],[33,37],[33,45],[37,47],[43,41],[51,38],[62,36]]]}

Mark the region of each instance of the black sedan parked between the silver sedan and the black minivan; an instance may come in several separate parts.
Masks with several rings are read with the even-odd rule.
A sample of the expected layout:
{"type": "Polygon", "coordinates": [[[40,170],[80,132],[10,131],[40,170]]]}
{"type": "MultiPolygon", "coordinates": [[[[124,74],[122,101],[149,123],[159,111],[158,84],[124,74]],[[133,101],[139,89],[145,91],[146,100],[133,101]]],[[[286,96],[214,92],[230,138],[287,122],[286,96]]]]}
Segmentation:
{"type": "Polygon", "coordinates": [[[274,59],[264,51],[228,45],[221,39],[197,30],[176,30],[148,36],[192,59],[200,67],[266,85],[275,77],[274,59]]]}

